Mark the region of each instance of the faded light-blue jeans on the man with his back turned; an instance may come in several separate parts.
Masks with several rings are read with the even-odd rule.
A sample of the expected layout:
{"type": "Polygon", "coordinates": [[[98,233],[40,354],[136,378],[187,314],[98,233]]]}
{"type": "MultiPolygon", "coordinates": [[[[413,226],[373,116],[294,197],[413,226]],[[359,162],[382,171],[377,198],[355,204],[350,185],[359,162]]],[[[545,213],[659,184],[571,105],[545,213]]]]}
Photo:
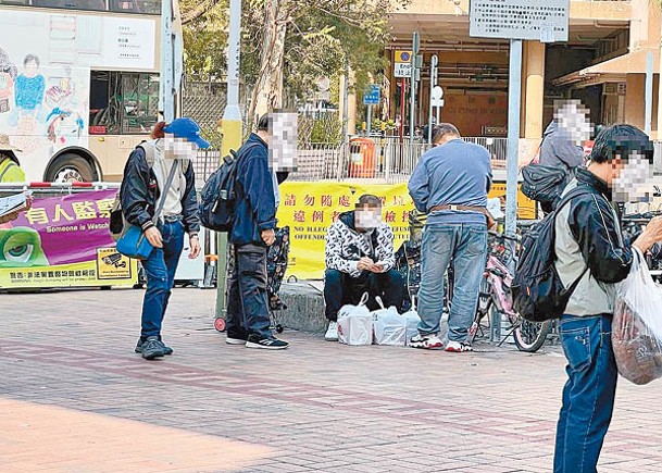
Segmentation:
{"type": "Polygon", "coordinates": [[[487,225],[426,225],[421,249],[419,315],[421,335],[438,334],[444,313],[444,274],[452,259],[453,299],[448,319],[448,338],[465,341],[476,304],[487,258],[487,225]]]}

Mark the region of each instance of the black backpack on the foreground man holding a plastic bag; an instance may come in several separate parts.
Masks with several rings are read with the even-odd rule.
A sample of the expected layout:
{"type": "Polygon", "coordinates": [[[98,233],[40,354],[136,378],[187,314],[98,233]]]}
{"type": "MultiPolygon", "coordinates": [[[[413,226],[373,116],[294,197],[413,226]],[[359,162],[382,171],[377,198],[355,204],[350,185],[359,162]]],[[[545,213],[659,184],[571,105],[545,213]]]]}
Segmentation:
{"type": "Polygon", "coordinates": [[[522,238],[520,261],[511,289],[515,310],[527,321],[545,322],[563,315],[570,297],[588,271],[587,266],[584,273],[565,288],[554,264],[557,215],[574,197],[586,192],[584,187],[571,190],[552,213],[533,226],[522,238]]]}

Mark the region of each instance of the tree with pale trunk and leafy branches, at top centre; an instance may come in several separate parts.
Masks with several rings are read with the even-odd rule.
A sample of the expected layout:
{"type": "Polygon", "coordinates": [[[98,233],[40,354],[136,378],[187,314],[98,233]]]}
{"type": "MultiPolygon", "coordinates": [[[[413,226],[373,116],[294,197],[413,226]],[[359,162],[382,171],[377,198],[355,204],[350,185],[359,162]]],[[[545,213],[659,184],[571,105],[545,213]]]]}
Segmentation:
{"type": "MultiPolygon", "coordinates": [[[[387,61],[388,16],[407,0],[254,0],[247,26],[262,37],[249,120],[283,103],[284,87],[298,99],[314,91],[320,77],[337,78],[346,64],[365,88],[387,61]],[[260,22],[260,9],[264,12],[260,22]]],[[[249,73],[250,75],[250,73],[249,73]]]]}

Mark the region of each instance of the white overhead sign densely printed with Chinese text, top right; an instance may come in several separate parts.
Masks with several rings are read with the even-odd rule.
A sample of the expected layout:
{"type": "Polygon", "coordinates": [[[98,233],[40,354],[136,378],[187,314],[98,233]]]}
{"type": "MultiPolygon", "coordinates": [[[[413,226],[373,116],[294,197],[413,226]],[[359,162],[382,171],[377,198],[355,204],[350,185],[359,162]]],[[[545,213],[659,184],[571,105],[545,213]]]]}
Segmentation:
{"type": "Polygon", "coordinates": [[[469,36],[567,41],[570,0],[472,0],[469,36]]]}

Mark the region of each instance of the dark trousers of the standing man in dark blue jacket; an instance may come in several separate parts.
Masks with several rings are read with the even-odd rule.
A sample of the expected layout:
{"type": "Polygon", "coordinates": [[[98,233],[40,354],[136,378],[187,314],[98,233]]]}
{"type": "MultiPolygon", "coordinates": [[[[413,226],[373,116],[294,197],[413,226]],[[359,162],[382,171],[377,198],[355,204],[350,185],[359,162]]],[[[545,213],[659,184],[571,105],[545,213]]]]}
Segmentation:
{"type": "Polygon", "coordinates": [[[248,338],[254,334],[272,338],[266,295],[266,251],[259,245],[235,246],[227,296],[227,336],[248,338]]]}

